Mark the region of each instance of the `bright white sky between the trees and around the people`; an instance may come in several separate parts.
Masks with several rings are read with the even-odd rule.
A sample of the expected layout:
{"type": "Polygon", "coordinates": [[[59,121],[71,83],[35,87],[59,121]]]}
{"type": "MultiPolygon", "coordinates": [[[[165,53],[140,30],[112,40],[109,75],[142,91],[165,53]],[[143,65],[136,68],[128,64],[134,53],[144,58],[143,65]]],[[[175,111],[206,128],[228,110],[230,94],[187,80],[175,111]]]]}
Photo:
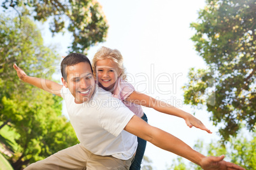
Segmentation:
{"type": "MultiPolygon", "coordinates": [[[[195,30],[191,22],[197,22],[199,9],[204,8],[204,0],[99,0],[110,28],[106,42],[90,48],[88,57],[92,60],[101,46],[118,49],[124,57],[128,80],[136,91],[166,101],[190,114],[194,114],[211,129],[208,134],[197,128],[188,128],[179,117],[162,114],[152,108],[143,107],[148,123],[180,138],[193,147],[197,140],[205,145],[211,140],[219,140],[218,129],[209,121],[210,113],[197,110],[183,103],[183,90],[188,82],[191,67],[207,69],[203,59],[197,54],[190,37],[195,30]]],[[[57,44],[62,56],[66,52],[70,35],[49,36],[42,27],[46,44],[57,44]]],[[[63,107],[66,114],[66,107],[63,107]]],[[[176,155],[147,143],[145,155],[152,160],[154,170],[167,169],[176,155]]]]}

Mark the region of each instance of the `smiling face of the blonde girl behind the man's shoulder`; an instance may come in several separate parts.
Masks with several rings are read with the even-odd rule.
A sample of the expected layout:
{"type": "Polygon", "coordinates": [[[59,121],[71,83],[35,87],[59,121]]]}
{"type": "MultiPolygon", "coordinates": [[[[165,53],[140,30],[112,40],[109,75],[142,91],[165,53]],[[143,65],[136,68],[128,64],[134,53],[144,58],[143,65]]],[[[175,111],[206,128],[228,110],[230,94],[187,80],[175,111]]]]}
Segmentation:
{"type": "Polygon", "coordinates": [[[110,58],[98,60],[96,63],[96,77],[99,86],[113,93],[115,82],[120,76],[117,64],[110,58]]]}

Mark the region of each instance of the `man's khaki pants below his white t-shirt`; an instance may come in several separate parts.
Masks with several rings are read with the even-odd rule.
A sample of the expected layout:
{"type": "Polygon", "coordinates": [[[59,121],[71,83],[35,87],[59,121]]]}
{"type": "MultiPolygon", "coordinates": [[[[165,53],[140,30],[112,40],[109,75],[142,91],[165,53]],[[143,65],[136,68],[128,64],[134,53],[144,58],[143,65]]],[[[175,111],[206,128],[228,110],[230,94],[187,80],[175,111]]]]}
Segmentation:
{"type": "Polygon", "coordinates": [[[86,170],[123,170],[129,169],[132,160],[121,160],[112,156],[99,156],[92,154],[85,149],[81,144],[73,147],[60,150],[56,154],[47,157],[44,160],[39,160],[26,167],[25,170],[30,169],[86,169],[86,170]]]}

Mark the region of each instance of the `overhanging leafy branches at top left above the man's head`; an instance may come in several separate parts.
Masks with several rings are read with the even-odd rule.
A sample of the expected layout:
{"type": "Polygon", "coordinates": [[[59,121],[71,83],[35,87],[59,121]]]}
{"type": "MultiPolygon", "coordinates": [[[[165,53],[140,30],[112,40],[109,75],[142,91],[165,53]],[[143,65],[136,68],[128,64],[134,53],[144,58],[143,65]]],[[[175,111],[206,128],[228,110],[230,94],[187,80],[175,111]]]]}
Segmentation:
{"type": "Polygon", "coordinates": [[[50,20],[53,35],[68,29],[73,34],[69,52],[86,53],[90,46],[106,40],[108,24],[96,0],[4,0],[1,6],[17,11],[19,16],[33,16],[42,22],[50,20]]]}

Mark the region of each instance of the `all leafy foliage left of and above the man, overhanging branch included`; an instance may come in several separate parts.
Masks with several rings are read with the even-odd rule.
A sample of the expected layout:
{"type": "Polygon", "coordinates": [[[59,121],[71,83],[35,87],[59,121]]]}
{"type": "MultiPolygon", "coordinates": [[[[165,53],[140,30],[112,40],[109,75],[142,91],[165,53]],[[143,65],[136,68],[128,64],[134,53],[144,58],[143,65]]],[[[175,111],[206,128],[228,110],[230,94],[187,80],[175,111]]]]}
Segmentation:
{"type": "Polygon", "coordinates": [[[104,41],[108,25],[97,1],[6,0],[1,7],[0,130],[8,126],[16,134],[14,141],[1,135],[1,142],[9,147],[6,158],[13,169],[22,169],[78,143],[62,115],[62,99],[21,82],[12,67],[17,63],[31,76],[53,80],[60,55],[55,46],[45,46],[35,21],[48,20],[53,36],[71,32],[69,51],[80,53],[104,41]]]}

